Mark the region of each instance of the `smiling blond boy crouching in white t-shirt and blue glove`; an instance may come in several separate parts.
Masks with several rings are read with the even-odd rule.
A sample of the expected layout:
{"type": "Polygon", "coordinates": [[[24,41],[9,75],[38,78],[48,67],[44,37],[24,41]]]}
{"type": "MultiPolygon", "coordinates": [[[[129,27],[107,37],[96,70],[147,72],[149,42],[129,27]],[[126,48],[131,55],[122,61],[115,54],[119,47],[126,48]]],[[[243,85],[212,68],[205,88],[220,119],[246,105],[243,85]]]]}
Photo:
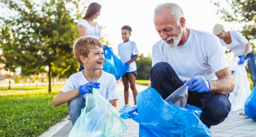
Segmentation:
{"type": "Polygon", "coordinates": [[[92,37],[79,38],[73,46],[76,60],[84,66],[84,70],[71,75],[64,87],[53,99],[53,106],[68,102],[69,116],[72,124],[85,107],[86,93],[92,93],[97,88],[106,100],[118,110],[120,99],[115,77],[102,70],[105,57],[100,40],[92,37]]]}

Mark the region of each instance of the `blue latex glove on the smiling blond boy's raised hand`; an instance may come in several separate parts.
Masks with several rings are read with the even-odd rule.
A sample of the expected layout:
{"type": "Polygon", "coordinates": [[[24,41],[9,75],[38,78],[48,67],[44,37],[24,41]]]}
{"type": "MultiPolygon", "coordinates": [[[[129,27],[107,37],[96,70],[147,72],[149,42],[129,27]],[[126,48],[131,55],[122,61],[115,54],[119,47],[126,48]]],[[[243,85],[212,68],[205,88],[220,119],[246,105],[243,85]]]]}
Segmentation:
{"type": "Polygon", "coordinates": [[[95,81],[91,81],[84,85],[80,85],[79,89],[78,89],[79,94],[83,96],[86,93],[92,93],[92,88],[96,88],[96,89],[100,88],[100,86],[98,86],[98,85],[100,85],[100,83],[95,82],[95,81]]]}

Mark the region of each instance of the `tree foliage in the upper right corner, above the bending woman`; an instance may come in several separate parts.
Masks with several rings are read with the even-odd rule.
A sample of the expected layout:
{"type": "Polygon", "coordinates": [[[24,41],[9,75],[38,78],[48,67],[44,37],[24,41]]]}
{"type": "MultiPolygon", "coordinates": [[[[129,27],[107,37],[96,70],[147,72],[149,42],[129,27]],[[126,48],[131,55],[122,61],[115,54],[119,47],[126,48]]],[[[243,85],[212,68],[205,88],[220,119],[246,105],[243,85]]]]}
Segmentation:
{"type": "Polygon", "coordinates": [[[213,2],[219,7],[217,14],[227,22],[244,23],[242,34],[250,40],[252,47],[256,43],[256,2],[255,0],[226,0],[229,7],[213,2]]]}

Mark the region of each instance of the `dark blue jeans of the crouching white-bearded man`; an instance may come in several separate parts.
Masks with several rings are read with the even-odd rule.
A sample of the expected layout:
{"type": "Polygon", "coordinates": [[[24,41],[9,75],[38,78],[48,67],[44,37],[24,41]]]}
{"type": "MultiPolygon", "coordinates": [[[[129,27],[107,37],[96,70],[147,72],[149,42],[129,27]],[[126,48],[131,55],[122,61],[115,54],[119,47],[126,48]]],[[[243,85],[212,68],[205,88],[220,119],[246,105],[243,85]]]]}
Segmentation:
{"type": "MultiPolygon", "coordinates": [[[[189,73],[189,72],[188,72],[189,73]]],[[[158,62],[150,70],[151,87],[165,100],[184,83],[167,62],[158,62]]],[[[202,110],[200,120],[208,128],[222,123],[228,117],[231,103],[227,95],[188,91],[188,104],[202,110]]]]}

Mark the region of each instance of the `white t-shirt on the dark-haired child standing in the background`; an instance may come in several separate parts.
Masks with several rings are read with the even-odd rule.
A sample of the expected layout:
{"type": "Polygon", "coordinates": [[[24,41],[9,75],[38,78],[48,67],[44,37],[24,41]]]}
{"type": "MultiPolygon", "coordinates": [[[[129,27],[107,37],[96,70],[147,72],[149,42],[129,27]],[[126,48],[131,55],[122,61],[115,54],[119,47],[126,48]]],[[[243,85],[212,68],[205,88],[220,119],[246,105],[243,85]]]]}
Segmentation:
{"type": "MultiPolygon", "coordinates": [[[[120,60],[125,63],[131,59],[131,56],[138,55],[139,51],[136,47],[136,43],[133,41],[123,42],[118,44],[118,56],[120,56],[120,60]]],[[[127,72],[132,72],[137,70],[135,61],[131,62],[129,65],[129,70],[127,72]]]]}

